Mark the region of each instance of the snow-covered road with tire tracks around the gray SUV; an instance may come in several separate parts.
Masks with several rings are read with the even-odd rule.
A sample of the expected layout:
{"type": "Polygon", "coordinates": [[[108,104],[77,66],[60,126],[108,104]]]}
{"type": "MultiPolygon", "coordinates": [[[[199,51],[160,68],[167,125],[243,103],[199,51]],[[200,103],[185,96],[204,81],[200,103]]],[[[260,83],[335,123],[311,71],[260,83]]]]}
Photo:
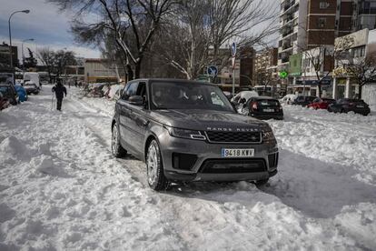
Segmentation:
{"type": "Polygon", "coordinates": [[[286,106],[270,186],[156,193],[111,156],[114,103],[68,92],[0,113],[0,250],[376,249],[376,115],[286,106]]]}

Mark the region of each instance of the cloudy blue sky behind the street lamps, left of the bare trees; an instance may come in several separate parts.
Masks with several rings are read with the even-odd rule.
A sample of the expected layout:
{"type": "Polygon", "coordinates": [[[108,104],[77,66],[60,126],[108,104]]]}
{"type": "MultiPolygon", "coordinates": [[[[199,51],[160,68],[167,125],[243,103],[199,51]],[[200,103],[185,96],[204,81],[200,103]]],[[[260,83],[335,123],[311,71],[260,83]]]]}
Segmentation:
{"type": "Polygon", "coordinates": [[[72,50],[77,56],[87,58],[100,57],[100,52],[88,45],[79,45],[74,42],[70,34],[69,21],[71,15],[61,12],[56,5],[45,3],[45,0],[0,0],[0,44],[3,41],[9,44],[8,18],[18,10],[29,9],[30,13],[17,13],[12,16],[12,45],[18,45],[19,58],[22,56],[22,41],[34,38],[34,42],[25,42],[32,51],[48,46],[50,49],[72,50]]]}

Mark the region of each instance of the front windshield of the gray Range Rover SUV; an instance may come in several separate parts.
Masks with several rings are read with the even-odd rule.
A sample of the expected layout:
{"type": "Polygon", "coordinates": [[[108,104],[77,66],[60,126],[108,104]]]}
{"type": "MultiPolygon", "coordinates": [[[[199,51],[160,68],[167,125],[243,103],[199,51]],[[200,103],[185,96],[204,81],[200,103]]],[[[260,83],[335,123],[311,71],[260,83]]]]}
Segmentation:
{"type": "Polygon", "coordinates": [[[197,83],[153,82],[154,109],[203,109],[234,112],[220,88],[197,83]]]}

